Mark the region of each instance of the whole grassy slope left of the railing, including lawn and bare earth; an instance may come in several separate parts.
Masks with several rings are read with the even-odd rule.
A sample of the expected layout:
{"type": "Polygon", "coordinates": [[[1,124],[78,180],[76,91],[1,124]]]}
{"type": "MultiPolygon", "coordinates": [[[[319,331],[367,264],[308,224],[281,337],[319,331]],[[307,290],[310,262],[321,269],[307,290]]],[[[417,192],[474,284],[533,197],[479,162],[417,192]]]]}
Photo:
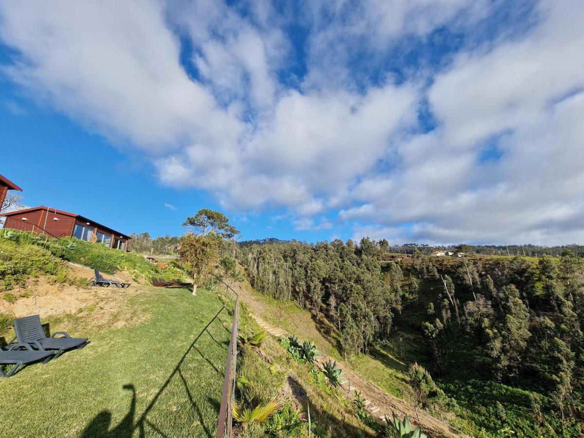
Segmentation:
{"type": "Polygon", "coordinates": [[[147,276],[167,268],[75,242],[67,258],[95,260],[113,271],[110,278],[133,281],[128,289],[89,287],[91,270],[53,255],[71,241],[47,246],[28,238],[0,236],[0,337],[14,335],[9,312],[40,312],[51,333],[68,331],[90,343],[0,380],[0,434],[214,434],[231,325],[222,301],[203,289],[193,297],[189,287],[152,287],[147,276]],[[32,302],[36,307],[27,305],[32,302]],[[34,415],[23,415],[31,406],[34,415]]]}

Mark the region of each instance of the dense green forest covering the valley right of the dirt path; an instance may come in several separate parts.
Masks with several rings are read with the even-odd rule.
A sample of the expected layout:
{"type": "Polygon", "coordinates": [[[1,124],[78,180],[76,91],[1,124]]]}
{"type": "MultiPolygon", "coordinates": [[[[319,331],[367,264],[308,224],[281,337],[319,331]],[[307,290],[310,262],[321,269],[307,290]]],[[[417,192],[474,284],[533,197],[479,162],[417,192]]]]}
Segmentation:
{"type": "Polygon", "coordinates": [[[454,412],[488,436],[503,427],[518,436],[584,433],[580,247],[550,256],[534,246],[526,255],[540,248],[536,259],[465,246],[455,258],[386,244],[268,239],[242,242],[237,257],[256,290],[331,322],[349,359],[412,335],[411,350],[439,384],[428,411],[454,412]]]}

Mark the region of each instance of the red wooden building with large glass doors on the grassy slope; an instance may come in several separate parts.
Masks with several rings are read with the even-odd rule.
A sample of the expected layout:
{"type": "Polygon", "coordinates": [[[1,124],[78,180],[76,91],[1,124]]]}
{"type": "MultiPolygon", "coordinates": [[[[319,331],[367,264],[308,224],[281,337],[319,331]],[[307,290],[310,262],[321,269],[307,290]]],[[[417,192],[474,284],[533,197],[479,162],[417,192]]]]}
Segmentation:
{"type": "Polygon", "coordinates": [[[102,244],[107,248],[128,251],[126,234],[75,213],[45,206],[26,208],[2,214],[6,217],[4,228],[32,231],[50,237],[77,237],[80,240],[102,244]]]}

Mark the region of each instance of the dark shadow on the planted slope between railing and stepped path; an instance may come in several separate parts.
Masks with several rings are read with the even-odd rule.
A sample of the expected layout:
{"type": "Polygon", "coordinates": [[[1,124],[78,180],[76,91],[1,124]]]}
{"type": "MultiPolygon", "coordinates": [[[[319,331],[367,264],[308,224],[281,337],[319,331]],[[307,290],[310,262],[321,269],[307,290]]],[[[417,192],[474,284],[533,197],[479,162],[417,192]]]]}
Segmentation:
{"type": "Polygon", "coordinates": [[[310,406],[311,422],[322,429],[328,429],[327,432],[331,434],[331,436],[373,437],[364,430],[364,427],[363,429],[360,429],[359,427],[340,420],[331,413],[326,412],[324,409],[315,405],[308,397],[304,384],[301,381],[298,381],[292,376],[288,376],[288,385],[290,385],[292,394],[294,395],[294,398],[296,398],[298,405],[303,406],[303,409],[306,409],[307,404],[310,406]]]}

